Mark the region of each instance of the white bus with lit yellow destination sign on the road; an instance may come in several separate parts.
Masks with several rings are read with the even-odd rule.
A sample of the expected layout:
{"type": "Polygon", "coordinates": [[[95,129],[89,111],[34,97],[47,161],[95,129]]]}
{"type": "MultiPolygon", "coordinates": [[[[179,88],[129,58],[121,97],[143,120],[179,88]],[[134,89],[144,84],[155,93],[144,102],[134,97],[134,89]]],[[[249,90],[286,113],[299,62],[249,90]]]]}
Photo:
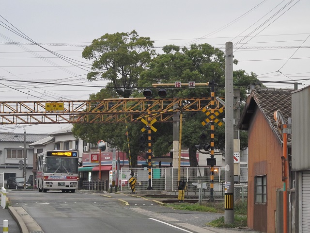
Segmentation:
{"type": "Polygon", "coordinates": [[[74,193],[78,189],[78,151],[47,150],[37,157],[39,192],[59,189],[74,193]]]}

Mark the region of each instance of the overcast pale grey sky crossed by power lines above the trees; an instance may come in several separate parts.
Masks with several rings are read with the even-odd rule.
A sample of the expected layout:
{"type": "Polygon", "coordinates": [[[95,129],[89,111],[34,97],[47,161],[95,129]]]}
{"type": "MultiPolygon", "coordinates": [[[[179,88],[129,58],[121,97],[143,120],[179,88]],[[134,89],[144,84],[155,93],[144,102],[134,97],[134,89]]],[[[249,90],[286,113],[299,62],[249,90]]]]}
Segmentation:
{"type": "MultiPolygon", "coordinates": [[[[135,29],[155,41],[157,52],[167,44],[193,43],[223,50],[232,41],[239,60],[234,70],[254,72],[261,81],[298,80],[303,83],[299,88],[308,86],[309,10],[309,0],[0,0],[0,101],[87,100],[105,85],[88,82],[86,70],[8,26],[48,50],[88,64],[82,50],[105,33],[135,29]],[[21,80],[89,87],[17,82],[21,80]]],[[[64,125],[0,125],[0,131],[19,133],[23,127],[27,133],[51,133],[64,125]]]]}

